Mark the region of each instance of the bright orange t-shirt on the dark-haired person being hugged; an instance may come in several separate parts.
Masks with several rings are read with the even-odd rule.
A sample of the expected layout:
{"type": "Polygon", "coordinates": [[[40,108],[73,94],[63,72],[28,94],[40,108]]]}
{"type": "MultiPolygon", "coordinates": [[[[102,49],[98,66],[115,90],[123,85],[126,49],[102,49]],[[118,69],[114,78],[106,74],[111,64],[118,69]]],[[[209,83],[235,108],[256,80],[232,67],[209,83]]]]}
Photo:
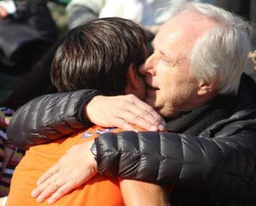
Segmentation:
{"type": "MultiPolygon", "coordinates": [[[[94,126],[69,138],[30,147],[15,169],[6,205],[49,205],[46,201],[39,204],[35,198],[31,197],[38,178],[57,163],[59,158],[75,144],[89,141],[104,132],[118,131],[120,129],[94,126]]],[[[66,194],[53,205],[121,206],[124,205],[124,202],[118,178],[97,175],[76,190],[66,194]]]]}

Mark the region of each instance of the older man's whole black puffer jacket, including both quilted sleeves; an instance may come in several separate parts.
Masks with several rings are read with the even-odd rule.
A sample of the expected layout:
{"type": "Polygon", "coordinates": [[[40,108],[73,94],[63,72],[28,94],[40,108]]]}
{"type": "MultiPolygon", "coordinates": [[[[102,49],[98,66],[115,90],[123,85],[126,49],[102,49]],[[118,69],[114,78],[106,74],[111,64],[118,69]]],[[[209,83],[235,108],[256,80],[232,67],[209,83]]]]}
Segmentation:
{"type": "MultiPolygon", "coordinates": [[[[247,78],[246,82],[251,80],[247,78]]],[[[246,83],[238,95],[234,115],[208,127],[199,137],[157,132],[101,135],[96,140],[99,171],[108,176],[171,183],[174,185],[171,197],[174,206],[255,206],[254,93],[254,83],[246,83]],[[129,138],[124,138],[126,136],[129,138]]],[[[73,124],[69,125],[75,126],[73,129],[81,128],[81,123],[87,124],[82,118],[82,110],[88,99],[96,94],[96,91],[79,91],[35,99],[13,116],[8,129],[9,140],[27,147],[74,132],[63,127],[63,123],[71,119],[73,124]],[[54,101],[54,97],[57,100],[54,101]],[[51,112],[63,108],[67,101],[76,103],[76,109],[69,107],[60,113],[51,112]]]]}

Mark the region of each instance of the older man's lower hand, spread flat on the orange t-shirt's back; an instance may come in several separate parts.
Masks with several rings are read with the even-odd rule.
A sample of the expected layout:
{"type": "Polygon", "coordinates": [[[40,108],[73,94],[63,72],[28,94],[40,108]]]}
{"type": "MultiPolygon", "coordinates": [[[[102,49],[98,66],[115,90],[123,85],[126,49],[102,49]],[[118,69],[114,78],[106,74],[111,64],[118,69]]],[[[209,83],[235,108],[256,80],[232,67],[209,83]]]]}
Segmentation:
{"type": "Polygon", "coordinates": [[[95,176],[97,163],[90,151],[93,141],[77,144],[69,149],[55,166],[40,177],[31,196],[37,197],[38,202],[50,197],[48,201],[52,204],[95,176]]]}

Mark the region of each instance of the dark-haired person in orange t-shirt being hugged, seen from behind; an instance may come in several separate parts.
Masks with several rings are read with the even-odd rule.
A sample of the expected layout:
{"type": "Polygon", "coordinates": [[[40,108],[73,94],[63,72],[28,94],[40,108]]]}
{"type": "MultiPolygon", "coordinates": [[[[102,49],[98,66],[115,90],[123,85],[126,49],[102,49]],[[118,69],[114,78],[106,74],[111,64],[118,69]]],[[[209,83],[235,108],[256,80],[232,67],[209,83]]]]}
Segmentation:
{"type": "MultiPolygon", "coordinates": [[[[138,74],[138,68],[147,57],[144,33],[137,24],[121,18],[91,21],[70,30],[63,38],[52,62],[52,82],[59,91],[94,88],[105,95],[135,94],[143,100],[146,97],[146,85],[138,74]]],[[[13,175],[7,205],[42,205],[39,203],[42,202],[40,198],[36,200],[30,196],[38,177],[57,163],[72,146],[93,141],[99,134],[110,130],[119,131],[116,128],[94,126],[68,138],[30,147],[13,175]]],[[[93,174],[95,171],[90,172],[93,174]]],[[[84,174],[87,175],[87,172],[84,174]]],[[[76,180],[81,178],[77,176],[76,180]]],[[[131,197],[126,183],[121,183],[120,190],[119,181],[122,182],[117,178],[95,177],[87,185],[76,185],[79,188],[66,194],[54,205],[141,205],[136,200],[138,197],[143,198],[143,193],[135,193],[131,197]],[[136,204],[131,203],[130,199],[136,204]]],[[[148,194],[158,194],[152,196],[156,197],[154,199],[145,199],[144,205],[155,205],[156,202],[166,205],[165,193],[160,186],[141,182],[138,185],[148,194]]],[[[55,182],[54,190],[60,186],[63,185],[55,182]]],[[[66,186],[69,188],[68,184],[66,186]]],[[[61,193],[67,192],[63,187],[61,190],[61,193]]]]}

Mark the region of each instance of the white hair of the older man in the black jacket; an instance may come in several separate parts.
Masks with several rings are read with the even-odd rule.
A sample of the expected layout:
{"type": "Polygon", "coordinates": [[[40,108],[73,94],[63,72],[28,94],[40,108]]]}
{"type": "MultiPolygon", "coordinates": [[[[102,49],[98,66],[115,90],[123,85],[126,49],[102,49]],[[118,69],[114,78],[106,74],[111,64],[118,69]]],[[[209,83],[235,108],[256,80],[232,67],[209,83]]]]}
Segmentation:
{"type": "Polygon", "coordinates": [[[216,90],[219,94],[237,93],[251,50],[251,24],[210,4],[188,2],[177,5],[176,13],[172,13],[172,16],[181,12],[198,13],[216,23],[196,41],[188,55],[191,73],[199,81],[218,79],[216,90]]]}

